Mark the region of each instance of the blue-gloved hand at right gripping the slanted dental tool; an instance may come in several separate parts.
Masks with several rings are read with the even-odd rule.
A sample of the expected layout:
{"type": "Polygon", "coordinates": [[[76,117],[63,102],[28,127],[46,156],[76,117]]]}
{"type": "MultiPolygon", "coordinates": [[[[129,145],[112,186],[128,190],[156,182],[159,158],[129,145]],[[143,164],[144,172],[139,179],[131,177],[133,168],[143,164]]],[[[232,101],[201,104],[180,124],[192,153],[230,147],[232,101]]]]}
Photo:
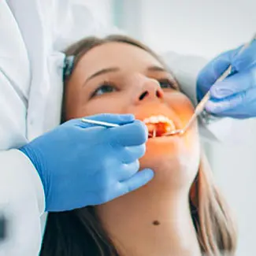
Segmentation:
{"type": "Polygon", "coordinates": [[[206,111],[219,117],[256,117],[256,42],[238,54],[240,49],[219,55],[198,75],[198,101],[210,90],[206,111]],[[213,85],[230,64],[232,74],[213,85]]]}

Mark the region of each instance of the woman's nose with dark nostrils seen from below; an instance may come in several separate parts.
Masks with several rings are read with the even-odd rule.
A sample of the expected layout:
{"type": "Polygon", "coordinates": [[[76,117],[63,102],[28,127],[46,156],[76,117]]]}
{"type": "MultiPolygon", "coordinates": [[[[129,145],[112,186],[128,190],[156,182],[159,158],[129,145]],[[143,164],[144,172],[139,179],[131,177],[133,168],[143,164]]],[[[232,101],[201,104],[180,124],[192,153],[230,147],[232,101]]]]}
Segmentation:
{"type": "Polygon", "coordinates": [[[163,98],[163,91],[157,80],[147,79],[143,82],[141,91],[136,99],[137,102],[143,102],[145,100],[153,100],[157,98],[163,98]]]}

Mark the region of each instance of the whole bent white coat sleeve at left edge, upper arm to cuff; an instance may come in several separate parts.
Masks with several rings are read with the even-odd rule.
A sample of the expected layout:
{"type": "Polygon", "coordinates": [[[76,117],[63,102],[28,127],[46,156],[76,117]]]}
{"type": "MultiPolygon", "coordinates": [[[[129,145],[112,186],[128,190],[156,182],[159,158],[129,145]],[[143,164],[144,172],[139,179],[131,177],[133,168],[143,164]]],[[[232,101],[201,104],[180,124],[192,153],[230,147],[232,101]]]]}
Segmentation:
{"type": "Polygon", "coordinates": [[[0,212],[8,221],[0,255],[36,256],[45,208],[43,186],[32,162],[17,150],[27,143],[30,67],[18,25],[5,1],[0,2],[0,34],[0,212]]]}

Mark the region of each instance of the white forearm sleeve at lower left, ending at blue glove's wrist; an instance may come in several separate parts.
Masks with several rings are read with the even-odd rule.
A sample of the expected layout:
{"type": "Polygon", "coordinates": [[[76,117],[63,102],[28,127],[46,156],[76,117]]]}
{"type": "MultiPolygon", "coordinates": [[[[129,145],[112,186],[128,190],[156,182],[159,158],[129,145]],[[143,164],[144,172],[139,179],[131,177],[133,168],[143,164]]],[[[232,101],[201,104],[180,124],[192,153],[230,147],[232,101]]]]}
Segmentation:
{"type": "Polygon", "coordinates": [[[41,187],[34,166],[19,150],[0,153],[0,213],[8,224],[6,239],[0,243],[1,256],[38,255],[44,211],[41,187]]]}

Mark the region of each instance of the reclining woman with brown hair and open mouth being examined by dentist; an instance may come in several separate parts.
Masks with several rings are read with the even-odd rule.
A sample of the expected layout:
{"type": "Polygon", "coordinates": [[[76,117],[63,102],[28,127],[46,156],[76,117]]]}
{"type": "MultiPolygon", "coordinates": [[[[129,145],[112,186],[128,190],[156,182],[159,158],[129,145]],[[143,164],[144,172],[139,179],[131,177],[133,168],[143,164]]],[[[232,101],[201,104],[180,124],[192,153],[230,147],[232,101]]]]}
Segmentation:
{"type": "Polygon", "coordinates": [[[197,123],[182,136],[161,136],[184,127],[194,111],[164,63],[121,35],[83,39],[66,54],[75,59],[65,77],[63,121],[133,113],[149,130],[140,168],[155,175],[101,206],[49,213],[40,255],[232,255],[236,230],[200,149],[197,123]]]}

